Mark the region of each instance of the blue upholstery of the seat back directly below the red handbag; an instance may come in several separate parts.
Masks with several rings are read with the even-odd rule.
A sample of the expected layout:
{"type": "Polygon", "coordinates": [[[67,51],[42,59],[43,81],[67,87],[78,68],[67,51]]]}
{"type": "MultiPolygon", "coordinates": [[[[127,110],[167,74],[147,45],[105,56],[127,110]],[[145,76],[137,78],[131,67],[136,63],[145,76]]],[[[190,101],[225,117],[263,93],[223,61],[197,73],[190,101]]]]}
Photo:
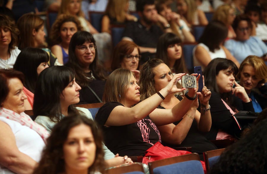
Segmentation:
{"type": "Polygon", "coordinates": [[[156,167],[153,170],[154,174],[204,174],[203,167],[200,161],[191,160],[179,162],[175,164],[156,167]]]}

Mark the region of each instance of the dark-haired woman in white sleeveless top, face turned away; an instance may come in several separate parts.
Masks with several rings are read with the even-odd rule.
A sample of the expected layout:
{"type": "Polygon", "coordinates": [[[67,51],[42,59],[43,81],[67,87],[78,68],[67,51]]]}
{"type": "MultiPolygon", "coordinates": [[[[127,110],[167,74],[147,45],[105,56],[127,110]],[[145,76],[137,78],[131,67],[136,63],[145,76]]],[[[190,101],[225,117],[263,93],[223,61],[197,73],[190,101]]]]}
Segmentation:
{"type": "Polygon", "coordinates": [[[217,57],[230,59],[237,67],[240,66],[236,58],[223,46],[227,32],[227,27],[220,21],[212,21],[206,26],[199,44],[193,49],[194,66],[201,66],[204,69],[217,57]]]}

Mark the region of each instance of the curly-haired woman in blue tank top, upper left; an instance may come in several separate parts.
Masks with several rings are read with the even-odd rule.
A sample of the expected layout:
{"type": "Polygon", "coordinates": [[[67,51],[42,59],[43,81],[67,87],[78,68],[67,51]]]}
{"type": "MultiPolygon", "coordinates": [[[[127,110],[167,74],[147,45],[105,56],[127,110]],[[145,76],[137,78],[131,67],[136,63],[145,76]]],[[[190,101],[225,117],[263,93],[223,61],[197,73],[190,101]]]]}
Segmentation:
{"type": "Polygon", "coordinates": [[[73,15],[61,14],[53,23],[50,39],[53,42],[51,51],[61,64],[69,60],[69,42],[74,33],[81,31],[80,21],[73,15]]]}

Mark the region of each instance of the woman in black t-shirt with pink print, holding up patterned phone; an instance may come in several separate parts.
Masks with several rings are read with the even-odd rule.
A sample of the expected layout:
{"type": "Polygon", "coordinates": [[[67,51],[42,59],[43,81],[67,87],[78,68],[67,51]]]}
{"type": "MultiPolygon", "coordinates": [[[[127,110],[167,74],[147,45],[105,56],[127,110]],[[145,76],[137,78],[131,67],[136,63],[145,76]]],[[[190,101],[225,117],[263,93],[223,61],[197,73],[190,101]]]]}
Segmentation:
{"type": "Polygon", "coordinates": [[[157,108],[167,95],[185,90],[176,87],[177,80],[183,75],[174,75],[166,87],[141,102],[140,87],[133,72],[116,69],[109,75],[103,94],[104,105],[98,110],[95,120],[104,131],[105,143],[113,153],[144,156],[148,148],[161,142],[157,126],[173,123],[185,116],[197,97],[199,76],[197,88],[190,88],[186,97],[172,109],[157,108]]]}

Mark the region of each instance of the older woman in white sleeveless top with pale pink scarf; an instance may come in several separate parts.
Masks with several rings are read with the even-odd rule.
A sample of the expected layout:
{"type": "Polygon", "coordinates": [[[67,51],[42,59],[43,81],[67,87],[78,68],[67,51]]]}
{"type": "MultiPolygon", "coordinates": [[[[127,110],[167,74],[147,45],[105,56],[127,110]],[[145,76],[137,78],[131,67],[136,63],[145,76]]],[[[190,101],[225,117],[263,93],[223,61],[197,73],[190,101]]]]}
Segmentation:
{"type": "Polygon", "coordinates": [[[47,131],[24,113],[24,75],[0,69],[0,173],[32,173],[41,158],[47,131]]]}

